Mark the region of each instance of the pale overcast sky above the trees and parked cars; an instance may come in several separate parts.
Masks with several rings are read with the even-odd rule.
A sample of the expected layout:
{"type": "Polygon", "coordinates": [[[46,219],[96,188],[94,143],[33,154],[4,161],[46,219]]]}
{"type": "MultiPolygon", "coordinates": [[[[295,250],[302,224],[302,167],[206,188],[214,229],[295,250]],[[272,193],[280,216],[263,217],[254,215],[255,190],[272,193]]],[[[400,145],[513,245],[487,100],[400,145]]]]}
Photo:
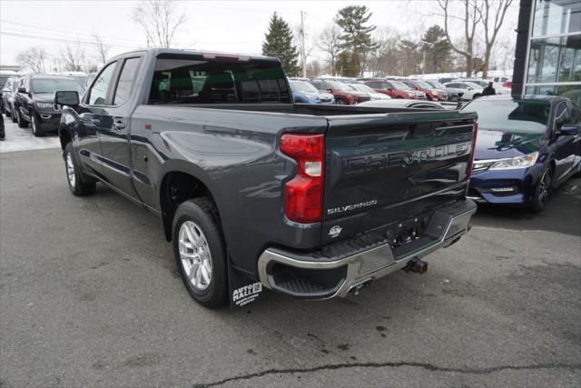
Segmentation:
{"type": "MultiPolygon", "coordinates": [[[[503,39],[516,40],[517,1],[509,10],[503,39]]],[[[409,38],[418,38],[430,25],[440,24],[435,0],[384,1],[180,1],[187,23],[175,37],[175,47],[261,54],[269,19],[276,11],[294,29],[300,10],[306,12],[305,30],[310,42],[332,23],[346,5],[367,5],[370,23],[389,26],[409,38]]],[[[86,54],[96,56],[93,35],[103,37],[116,55],[145,45],[141,27],[133,22],[133,1],[0,1],[0,64],[15,65],[16,55],[42,46],[58,55],[66,42],[80,42],[86,54]]],[[[514,51],[514,48],[513,48],[514,51]]],[[[321,53],[313,56],[323,59],[321,53]]]]}

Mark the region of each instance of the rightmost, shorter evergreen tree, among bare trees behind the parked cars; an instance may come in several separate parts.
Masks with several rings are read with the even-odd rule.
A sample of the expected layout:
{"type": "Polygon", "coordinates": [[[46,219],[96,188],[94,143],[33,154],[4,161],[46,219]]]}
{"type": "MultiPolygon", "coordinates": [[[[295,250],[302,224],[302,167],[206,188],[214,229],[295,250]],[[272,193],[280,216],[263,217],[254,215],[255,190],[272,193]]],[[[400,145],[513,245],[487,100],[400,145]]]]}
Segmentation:
{"type": "Polygon", "coordinates": [[[448,73],[452,67],[452,47],[446,32],[439,25],[432,25],[421,38],[421,49],[426,53],[426,73],[448,73]]]}

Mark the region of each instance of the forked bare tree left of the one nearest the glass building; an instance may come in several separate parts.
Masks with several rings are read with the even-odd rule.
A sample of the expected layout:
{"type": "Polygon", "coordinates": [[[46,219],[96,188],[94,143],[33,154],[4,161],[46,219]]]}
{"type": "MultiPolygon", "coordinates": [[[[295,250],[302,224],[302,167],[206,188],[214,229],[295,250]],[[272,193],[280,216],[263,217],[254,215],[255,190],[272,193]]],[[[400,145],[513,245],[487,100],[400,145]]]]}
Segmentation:
{"type": "Polygon", "coordinates": [[[458,15],[456,15],[455,10],[451,8],[450,3],[450,0],[438,0],[438,5],[444,13],[442,15],[444,17],[444,32],[446,33],[446,38],[448,39],[452,50],[457,52],[459,55],[464,56],[466,59],[466,75],[469,77],[472,75],[473,67],[472,58],[474,57],[474,36],[476,35],[477,26],[482,19],[482,15],[479,11],[478,0],[463,0],[462,12],[458,13],[458,15]],[[463,24],[463,46],[455,45],[452,42],[450,29],[454,21],[463,24]]]}

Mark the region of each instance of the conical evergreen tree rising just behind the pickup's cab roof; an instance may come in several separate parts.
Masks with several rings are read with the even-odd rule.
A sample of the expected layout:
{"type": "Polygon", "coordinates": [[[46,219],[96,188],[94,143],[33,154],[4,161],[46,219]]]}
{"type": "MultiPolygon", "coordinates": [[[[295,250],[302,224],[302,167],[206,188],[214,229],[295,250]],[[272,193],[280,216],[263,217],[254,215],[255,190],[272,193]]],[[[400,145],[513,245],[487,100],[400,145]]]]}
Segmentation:
{"type": "Polygon", "coordinates": [[[269,32],[262,43],[262,55],[279,58],[287,75],[300,74],[299,52],[297,47],[292,45],[291,27],[276,15],[276,12],[271,17],[269,32]]]}

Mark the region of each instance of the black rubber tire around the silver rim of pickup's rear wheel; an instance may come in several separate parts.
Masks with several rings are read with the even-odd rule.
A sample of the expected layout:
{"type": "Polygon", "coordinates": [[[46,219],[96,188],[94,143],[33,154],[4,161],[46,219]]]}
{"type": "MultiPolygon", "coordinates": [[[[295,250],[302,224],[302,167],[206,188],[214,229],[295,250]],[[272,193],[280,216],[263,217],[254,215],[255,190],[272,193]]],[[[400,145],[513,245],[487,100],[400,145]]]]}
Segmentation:
{"type": "MultiPolygon", "coordinates": [[[[227,302],[228,297],[228,274],[226,263],[226,244],[222,238],[222,232],[215,208],[208,198],[194,198],[183,202],[178,207],[173,216],[172,224],[172,244],[173,256],[182,275],[182,281],[192,298],[205,307],[215,309],[227,302]],[[209,250],[211,267],[211,280],[206,285],[207,288],[201,290],[194,286],[184,268],[182,256],[180,254],[180,231],[182,225],[191,222],[202,231],[202,236],[207,244],[204,246],[209,250]]],[[[186,259],[189,260],[189,259],[186,259]]],[[[193,259],[192,263],[193,263],[193,259]]],[[[201,264],[198,264],[198,267],[201,264]]],[[[190,271],[193,270],[193,264],[190,271]]],[[[193,281],[193,280],[192,280],[193,281]]]]}

